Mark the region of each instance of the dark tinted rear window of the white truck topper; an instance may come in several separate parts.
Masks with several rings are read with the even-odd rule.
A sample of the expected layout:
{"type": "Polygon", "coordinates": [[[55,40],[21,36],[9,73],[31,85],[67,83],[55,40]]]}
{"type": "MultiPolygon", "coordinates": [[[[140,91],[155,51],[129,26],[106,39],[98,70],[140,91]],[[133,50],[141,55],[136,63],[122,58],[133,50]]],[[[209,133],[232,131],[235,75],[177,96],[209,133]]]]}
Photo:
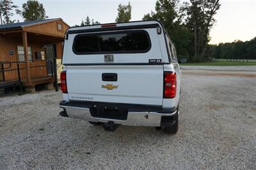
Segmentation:
{"type": "Polygon", "coordinates": [[[118,31],[93,33],[74,38],[75,54],[143,53],[150,50],[147,31],[118,31]]]}

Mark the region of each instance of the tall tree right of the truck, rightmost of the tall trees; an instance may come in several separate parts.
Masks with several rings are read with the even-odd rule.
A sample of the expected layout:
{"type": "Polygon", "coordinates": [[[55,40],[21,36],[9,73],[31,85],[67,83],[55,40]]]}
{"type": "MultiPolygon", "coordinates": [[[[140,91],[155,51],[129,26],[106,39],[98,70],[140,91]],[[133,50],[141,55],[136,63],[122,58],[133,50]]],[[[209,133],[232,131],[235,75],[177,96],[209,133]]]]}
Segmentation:
{"type": "Polygon", "coordinates": [[[186,26],[193,33],[192,61],[202,61],[205,57],[209,32],[216,21],[214,15],[220,9],[220,0],[190,0],[185,3],[183,11],[186,13],[186,26]]]}

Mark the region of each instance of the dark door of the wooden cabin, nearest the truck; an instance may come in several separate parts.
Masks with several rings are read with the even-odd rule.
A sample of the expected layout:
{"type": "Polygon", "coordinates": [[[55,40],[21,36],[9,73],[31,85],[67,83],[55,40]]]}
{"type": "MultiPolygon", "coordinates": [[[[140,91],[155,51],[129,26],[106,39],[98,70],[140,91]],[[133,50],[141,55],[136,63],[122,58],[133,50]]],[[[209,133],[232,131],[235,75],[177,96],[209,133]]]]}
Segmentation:
{"type": "Polygon", "coordinates": [[[46,65],[47,65],[47,73],[51,75],[54,72],[54,68],[52,68],[53,60],[56,58],[55,56],[55,48],[53,44],[48,44],[45,47],[45,58],[46,58],[46,65]]]}

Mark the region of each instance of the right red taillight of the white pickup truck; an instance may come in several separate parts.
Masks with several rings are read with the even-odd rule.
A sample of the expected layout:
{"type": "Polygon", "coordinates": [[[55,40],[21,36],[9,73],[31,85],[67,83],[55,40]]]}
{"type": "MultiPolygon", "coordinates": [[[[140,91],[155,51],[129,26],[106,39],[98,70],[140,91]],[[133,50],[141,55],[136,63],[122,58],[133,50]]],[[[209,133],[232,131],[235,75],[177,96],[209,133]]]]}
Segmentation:
{"type": "Polygon", "coordinates": [[[176,73],[164,72],[164,98],[174,98],[176,96],[176,73]]]}

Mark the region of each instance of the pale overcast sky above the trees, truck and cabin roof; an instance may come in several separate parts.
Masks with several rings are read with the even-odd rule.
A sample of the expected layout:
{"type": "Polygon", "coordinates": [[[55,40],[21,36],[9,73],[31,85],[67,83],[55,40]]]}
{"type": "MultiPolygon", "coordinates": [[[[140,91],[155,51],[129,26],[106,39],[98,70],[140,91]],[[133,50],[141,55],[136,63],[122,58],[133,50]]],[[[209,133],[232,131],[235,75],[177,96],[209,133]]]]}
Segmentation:
{"type": "MultiPolygon", "coordinates": [[[[20,8],[25,1],[14,1],[20,8]]],[[[145,13],[155,10],[156,1],[131,0],[132,19],[141,20],[145,13]]],[[[100,23],[115,22],[116,8],[119,3],[128,1],[116,0],[40,0],[44,4],[49,18],[61,17],[67,24],[80,24],[87,15],[100,23]]],[[[256,0],[221,0],[221,8],[216,15],[216,23],[211,31],[211,42],[233,42],[250,40],[256,36],[256,0]]],[[[13,17],[19,19],[21,17],[13,17]]]]}

